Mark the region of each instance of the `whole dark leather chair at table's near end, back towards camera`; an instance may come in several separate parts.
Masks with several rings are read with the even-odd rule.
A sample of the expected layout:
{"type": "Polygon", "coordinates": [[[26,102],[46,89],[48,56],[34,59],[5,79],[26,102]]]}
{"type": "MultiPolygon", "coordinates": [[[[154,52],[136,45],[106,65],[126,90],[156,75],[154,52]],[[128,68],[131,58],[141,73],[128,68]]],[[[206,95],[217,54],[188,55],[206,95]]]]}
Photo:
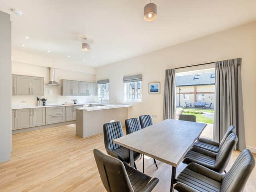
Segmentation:
{"type": "Polygon", "coordinates": [[[93,153],[100,179],[108,192],[150,192],[159,181],[97,149],[93,153]]]}

